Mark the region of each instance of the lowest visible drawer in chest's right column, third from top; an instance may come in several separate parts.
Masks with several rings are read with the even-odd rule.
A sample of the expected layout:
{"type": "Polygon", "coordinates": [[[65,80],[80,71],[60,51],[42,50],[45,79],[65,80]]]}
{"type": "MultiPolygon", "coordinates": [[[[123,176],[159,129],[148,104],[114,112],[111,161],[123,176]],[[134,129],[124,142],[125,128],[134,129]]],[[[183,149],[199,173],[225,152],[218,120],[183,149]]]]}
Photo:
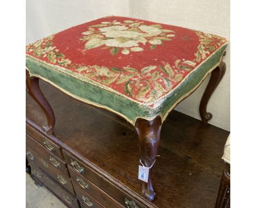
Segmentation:
{"type": "Polygon", "coordinates": [[[100,203],[98,203],[94,198],[92,198],[89,194],[86,194],[85,192],[83,192],[76,185],[74,185],[74,189],[75,189],[75,193],[77,193],[77,198],[79,200],[80,205],[87,207],[87,208],[88,207],[94,207],[94,208],[104,207],[100,203]]]}

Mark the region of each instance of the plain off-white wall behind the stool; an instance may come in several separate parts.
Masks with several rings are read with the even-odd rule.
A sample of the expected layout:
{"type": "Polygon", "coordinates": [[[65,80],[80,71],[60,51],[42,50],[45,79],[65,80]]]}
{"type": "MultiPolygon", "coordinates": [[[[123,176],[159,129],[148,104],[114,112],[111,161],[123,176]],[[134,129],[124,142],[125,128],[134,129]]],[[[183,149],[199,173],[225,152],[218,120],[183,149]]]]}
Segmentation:
{"type": "MultiPolygon", "coordinates": [[[[103,16],[127,16],[188,27],[230,40],[229,0],[27,0],[26,43],[103,16]]],[[[230,130],[230,47],[226,74],[208,103],[210,124],[230,130]]],[[[175,108],[200,119],[199,103],[209,77],[175,108]]]]}

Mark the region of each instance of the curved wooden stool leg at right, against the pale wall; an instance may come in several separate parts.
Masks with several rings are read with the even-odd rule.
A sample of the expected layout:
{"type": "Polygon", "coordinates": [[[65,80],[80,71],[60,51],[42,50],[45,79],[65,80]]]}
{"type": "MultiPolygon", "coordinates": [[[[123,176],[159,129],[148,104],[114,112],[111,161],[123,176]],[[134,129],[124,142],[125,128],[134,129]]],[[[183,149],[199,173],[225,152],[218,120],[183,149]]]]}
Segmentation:
{"type": "Polygon", "coordinates": [[[205,93],[203,93],[199,107],[199,112],[203,123],[207,123],[208,120],[212,118],[212,114],[207,112],[207,104],[212,96],[212,93],[217,88],[219,82],[222,80],[225,71],[226,64],[224,62],[220,62],[220,65],[217,66],[217,68],[215,68],[211,73],[210,81],[205,89],[205,93]]]}

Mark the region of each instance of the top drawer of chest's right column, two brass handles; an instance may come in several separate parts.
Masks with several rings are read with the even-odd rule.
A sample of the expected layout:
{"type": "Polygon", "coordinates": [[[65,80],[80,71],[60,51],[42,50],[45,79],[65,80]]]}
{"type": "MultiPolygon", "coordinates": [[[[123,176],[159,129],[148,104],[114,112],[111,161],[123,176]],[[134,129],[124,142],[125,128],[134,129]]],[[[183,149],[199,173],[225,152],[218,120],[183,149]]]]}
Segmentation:
{"type": "Polygon", "coordinates": [[[84,163],[77,160],[77,158],[68,154],[67,151],[63,150],[63,155],[65,156],[66,163],[69,169],[73,169],[74,172],[80,173],[86,179],[94,183],[102,191],[107,193],[110,197],[120,203],[122,206],[127,207],[128,204],[135,204],[134,207],[144,207],[142,204],[138,203],[132,197],[121,191],[118,187],[110,183],[104,178],[103,175],[96,173],[94,170],[86,166],[84,163]]]}

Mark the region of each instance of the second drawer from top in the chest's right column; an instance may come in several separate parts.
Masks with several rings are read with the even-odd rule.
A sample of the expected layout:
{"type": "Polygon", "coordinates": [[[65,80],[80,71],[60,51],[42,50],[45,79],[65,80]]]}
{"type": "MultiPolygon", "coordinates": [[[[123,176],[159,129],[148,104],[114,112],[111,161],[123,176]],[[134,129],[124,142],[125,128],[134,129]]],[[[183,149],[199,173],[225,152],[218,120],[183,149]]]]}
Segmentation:
{"type": "Polygon", "coordinates": [[[101,203],[104,207],[113,207],[120,208],[121,206],[117,201],[115,201],[112,197],[109,197],[108,194],[104,193],[100,188],[95,186],[92,182],[84,178],[84,176],[75,172],[74,169],[68,167],[69,172],[71,174],[71,180],[73,185],[77,185],[84,192],[88,193],[94,199],[96,199],[99,203],[101,203]]]}

